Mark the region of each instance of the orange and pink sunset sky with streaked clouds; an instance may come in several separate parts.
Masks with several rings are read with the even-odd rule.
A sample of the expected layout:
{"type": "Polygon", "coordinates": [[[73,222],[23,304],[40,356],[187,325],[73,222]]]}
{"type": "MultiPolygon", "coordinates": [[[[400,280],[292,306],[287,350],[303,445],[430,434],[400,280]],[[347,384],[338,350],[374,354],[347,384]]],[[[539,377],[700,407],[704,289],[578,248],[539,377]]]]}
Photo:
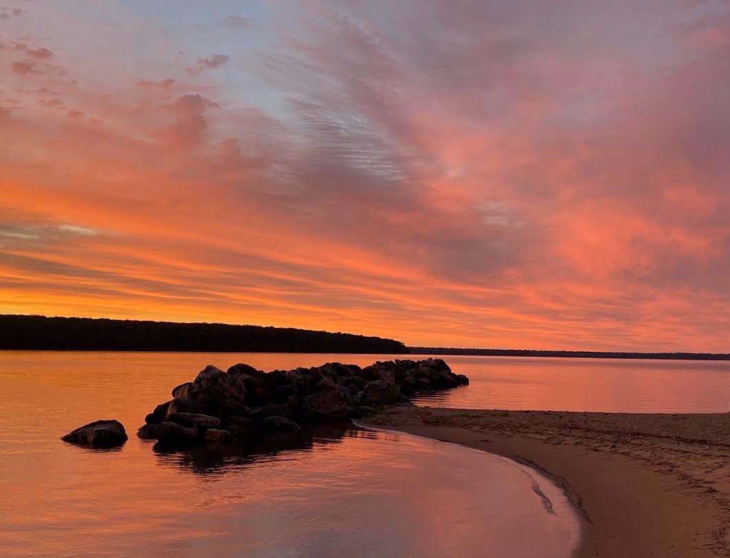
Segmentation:
{"type": "Polygon", "coordinates": [[[0,312],[730,352],[730,3],[0,0],[0,312]]]}

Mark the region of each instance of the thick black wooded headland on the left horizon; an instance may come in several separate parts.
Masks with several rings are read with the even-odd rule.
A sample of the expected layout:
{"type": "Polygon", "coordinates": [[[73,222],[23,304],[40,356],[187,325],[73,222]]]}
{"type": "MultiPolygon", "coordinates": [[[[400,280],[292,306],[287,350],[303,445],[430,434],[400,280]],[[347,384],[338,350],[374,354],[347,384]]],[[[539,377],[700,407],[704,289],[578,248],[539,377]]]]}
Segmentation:
{"type": "Polygon", "coordinates": [[[393,339],[258,325],[0,314],[0,349],[403,354],[393,339]]]}

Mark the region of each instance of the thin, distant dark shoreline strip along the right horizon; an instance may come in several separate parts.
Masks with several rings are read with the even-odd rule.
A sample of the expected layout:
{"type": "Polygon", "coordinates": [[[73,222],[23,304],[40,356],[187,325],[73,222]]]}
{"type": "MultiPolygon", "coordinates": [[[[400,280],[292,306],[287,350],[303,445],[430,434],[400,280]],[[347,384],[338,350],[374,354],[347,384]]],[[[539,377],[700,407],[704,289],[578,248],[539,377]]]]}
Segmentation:
{"type": "Polygon", "coordinates": [[[664,360],[730,360],[730,354],[705,352],[602,352],[539,351],[534,349],[458,349],[410,346],[411,354],[471,354],[485,357],[563,357],[563,358],[648,358],[664,360]]]}

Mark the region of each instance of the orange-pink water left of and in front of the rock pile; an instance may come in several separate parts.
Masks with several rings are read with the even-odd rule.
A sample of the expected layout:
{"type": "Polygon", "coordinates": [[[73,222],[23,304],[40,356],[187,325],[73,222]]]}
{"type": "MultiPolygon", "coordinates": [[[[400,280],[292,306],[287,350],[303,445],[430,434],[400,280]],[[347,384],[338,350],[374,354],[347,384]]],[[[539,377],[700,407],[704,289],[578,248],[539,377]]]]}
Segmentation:
{"type": "Polygon", "coordinates": [[[0,556],[569,556],[561,492],[502,457],[345,426],[225,452],[156,452],[134,435],[207,363],[328,360],[374,357],[0,352],[0,556]],[[107,418],[130,435],[119,451],[58,440],[107,418]]]}

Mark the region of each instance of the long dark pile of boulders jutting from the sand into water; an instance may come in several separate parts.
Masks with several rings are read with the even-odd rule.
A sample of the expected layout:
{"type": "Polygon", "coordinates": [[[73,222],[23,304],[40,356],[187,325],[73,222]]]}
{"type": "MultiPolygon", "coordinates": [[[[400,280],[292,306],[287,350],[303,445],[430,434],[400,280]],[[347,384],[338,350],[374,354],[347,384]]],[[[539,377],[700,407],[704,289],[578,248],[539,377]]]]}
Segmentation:
{"type": "Polygon", "coordinates": [[[169,445],[228,445],[235,440],[296,433],[310,422],[347,420],[407,403],[417,392],[468,384],[437,358],[390,360],[360,368],[328,363],[264,372],[209,365],[172,390],[172,400],[145,417],[139,438],[169,445]]]}

